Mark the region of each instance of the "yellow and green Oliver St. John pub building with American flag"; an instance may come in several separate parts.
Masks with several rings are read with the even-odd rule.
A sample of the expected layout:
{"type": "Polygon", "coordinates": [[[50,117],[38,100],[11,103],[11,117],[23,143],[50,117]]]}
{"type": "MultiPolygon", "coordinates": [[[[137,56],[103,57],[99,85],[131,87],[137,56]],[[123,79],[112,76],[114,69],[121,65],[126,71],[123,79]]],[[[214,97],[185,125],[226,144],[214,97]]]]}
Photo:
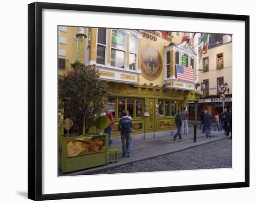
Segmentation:
{"type": "MultiPolygon", "coordinates": [[[[95,64],[107,83],[106,106],[115,120],[112,140],[120,140],[117,126],[124,109],[132,118],[134,139],[174,135],[177,111],[188,109],[189,102],[199,99],[195,91],[198,59],[193,44],[182,42],[182,32],[83,29],[88,37],[80,45],[80,60],[86,66],[95,64]]],[[[65,68],[59,67],[60,75],[75,60],[75,54],[68,56],[68,52],[75,43],[73,35],[77,30],[59,27],[59,37],[67,37],[66,44],[59,46],[65,52],[59,58],[66,61],[65,68]]]]}

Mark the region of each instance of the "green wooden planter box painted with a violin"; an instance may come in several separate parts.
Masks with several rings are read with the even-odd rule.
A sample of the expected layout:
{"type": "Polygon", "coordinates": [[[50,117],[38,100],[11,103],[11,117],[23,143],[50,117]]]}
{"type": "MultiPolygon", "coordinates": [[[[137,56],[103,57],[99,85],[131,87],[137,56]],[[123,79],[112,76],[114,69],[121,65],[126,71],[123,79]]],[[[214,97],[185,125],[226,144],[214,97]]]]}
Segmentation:
{"type": "Polygon", "coordinates": [[[59,168],[63,173],[108,164],[108,134],[59,137],[59,168]]]}

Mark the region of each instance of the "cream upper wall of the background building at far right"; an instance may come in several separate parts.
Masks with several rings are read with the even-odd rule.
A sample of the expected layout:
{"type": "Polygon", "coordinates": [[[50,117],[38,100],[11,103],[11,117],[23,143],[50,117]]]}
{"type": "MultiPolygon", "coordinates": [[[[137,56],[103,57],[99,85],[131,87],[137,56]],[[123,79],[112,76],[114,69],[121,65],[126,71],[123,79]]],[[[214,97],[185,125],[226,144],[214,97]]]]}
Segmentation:
{"type": "MultiPolygon", "coordinates": [[[[226,91],[225,94],[232,94],[232,42],[220,45],[218,47],[208,50],[207,54],[202,55],[202,60],[204,57],[209,57],[209,71],[199,73],[199,82],[204,79],[209,79],[209,88],[217,88],[217,77],[224,77],[224,83],[228,83],[229,93],[226,91]],[[221,70],[216,70],[216,54],[223,52],[223,65],[224,68],[221,70]]],[[[209,95],[216,95],[217,89],[209,89],[209,95]]]]}

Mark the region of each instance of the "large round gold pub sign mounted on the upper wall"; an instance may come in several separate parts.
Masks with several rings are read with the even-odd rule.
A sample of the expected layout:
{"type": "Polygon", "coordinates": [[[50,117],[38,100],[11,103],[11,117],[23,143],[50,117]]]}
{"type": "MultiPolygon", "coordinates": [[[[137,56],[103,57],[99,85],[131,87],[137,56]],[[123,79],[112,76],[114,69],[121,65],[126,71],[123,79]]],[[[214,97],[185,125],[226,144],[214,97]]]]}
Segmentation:
{"type": "Polygon", "coordinates": [[[152,45],[144,44],[141,47],[141,74],[148,80],[154,80],[162,72],[162,57],[152,45]]]}

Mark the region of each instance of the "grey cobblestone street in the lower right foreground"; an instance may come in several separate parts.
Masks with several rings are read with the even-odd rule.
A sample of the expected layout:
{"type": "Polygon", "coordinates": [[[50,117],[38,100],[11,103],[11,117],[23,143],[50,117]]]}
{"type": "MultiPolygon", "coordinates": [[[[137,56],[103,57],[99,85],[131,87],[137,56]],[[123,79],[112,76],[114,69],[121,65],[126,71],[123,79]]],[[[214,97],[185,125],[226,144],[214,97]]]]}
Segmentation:
{"type": "Polygon", "coordinates": [[[214,169],[229,167],[232,167],[232,141],[224,139],[94,174],[214,169]]]}

